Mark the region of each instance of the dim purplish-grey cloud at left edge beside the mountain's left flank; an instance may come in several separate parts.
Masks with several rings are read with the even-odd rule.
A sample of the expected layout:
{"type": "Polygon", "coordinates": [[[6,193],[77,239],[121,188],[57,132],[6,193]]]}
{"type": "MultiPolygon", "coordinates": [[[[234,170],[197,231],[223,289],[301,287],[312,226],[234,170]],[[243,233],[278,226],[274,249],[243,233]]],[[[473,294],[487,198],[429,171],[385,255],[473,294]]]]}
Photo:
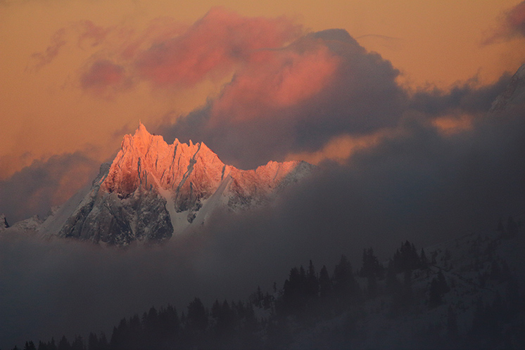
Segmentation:
{"type": "Polygon", "coordinates": [[[45,216],[52,206],[61,205],[94,179],[99,165],[80,152],[36,160],[0,181],[0,213],[10,223],[34,214],[45,216]]]}

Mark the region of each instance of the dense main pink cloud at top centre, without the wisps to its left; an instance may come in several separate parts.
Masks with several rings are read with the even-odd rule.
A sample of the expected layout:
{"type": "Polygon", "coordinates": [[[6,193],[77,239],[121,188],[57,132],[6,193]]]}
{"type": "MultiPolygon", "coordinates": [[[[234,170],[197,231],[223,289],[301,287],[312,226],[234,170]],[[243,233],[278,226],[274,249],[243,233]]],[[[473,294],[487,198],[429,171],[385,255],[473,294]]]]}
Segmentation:
{"type": "Polygon", "coordinates": [[[182,35],[138,54],[140,77],[158,86],[191,86],[212,74],[231,72],[263,48],[280,48],[301,34],[287,18],[246,18],[213,8],[182,35]]]}

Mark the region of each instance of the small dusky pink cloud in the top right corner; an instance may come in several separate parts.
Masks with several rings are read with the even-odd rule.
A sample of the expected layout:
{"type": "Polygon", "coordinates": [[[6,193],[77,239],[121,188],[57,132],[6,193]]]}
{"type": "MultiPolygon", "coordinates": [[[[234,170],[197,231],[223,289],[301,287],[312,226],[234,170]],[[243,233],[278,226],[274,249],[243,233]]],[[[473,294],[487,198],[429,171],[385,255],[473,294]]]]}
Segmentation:
{"type": "Polygon", "coordinates": [[[493,44],[517,37],[525,37],[525,1],[521,1],[502,14],[498,27],[483,41],[483,44],[493,44]]]}

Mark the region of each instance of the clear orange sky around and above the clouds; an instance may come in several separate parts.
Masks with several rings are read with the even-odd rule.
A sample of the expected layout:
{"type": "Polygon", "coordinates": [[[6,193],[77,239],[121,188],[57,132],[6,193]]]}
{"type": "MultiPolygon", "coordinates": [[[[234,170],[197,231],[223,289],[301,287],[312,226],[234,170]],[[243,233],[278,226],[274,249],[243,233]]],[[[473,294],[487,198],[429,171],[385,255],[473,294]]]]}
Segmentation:
{"type": "MultiPolygon", "coordinates": [[[[171,1],[27,0],[0,1],[0,179],[35,159],[80,150],[104,160],[139,119],[184,115],[216,96],[229,76],[195,86],[158,89],[139,82],[121,91],[91,93],[81,88],[82,72],[111,56],[120,39],[139,36],[162,17],[161,30],[184,30],[213,6],[240,15],[286,15],[303,31],[346,29],[369,51],[377,51],[402,72],[410,89],[447,88],[477,75],[480,84],[514,72],[525,58],[523,39],[483,45],[498,29],[502,13],[517,0],[460,1],[171,1]],[[89,20],[97,28],[81,39],[89,20]],[[84,28],[84,29],[83,29],[84,28]],[[61,32],[62,30],[62,32],[61,32]],[[116,33],[116,34],[115,34],[116,33]],[[57,45],[61,41],[65,44],[57,45]],[[102,43],[103,41],[103,43],[102,43]],[[57,49],[53,56],[53,45],[57,49]],[[46,51],[48,50],[48,51],[46,51]],[[35,53],[37,55],[35,56],[35,53]],[[49,58],[49,63],[47,59],[49,58]]],[[[150,27],[151,29],[151,27],[150,27]]],[[[118,77],[115,77],[118,79],[118,77]]],[[[343,143],[348,140],[341,141],[343,143]]]]}

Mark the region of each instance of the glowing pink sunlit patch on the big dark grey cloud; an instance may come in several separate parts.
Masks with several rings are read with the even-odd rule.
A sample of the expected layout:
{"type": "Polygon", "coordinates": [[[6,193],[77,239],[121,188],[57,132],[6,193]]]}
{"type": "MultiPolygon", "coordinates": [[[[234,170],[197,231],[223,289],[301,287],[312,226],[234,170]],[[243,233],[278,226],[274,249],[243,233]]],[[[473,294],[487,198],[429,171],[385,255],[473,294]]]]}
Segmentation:
{"type": "Polygon", "coordinates": [[[212,122],[270,117],[268,110],[289,108],[322,91],[334,79],[341,60],[327,46],[310,44],[301,50],[255,53],[215,101],[212,122]]]}

